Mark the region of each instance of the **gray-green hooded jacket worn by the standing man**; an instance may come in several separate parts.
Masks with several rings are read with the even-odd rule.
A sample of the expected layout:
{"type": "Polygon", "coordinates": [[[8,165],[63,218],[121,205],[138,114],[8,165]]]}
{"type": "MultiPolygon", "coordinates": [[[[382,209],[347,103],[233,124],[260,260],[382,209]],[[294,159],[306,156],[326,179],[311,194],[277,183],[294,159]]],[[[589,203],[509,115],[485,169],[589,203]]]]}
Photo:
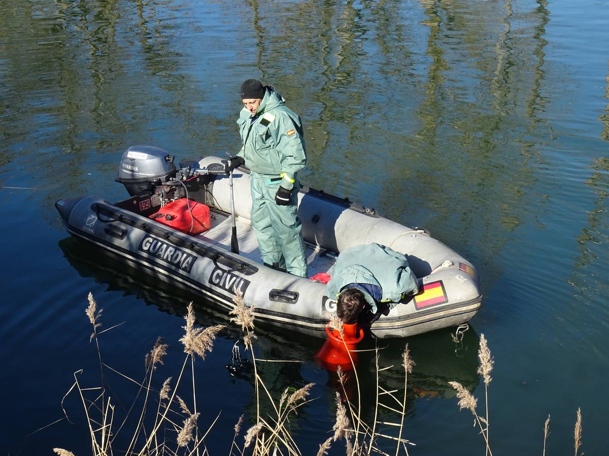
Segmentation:
{"type": "Polygon", "coordinates": [[[283,177],[281,186],[291,190],[296,173],[306,165],[305,139],[300,117],[284,104],[284,99],[272,86],[254,115],[247,109],[239,114],[242,148],[238,156],[253,173],[283,177]]]}

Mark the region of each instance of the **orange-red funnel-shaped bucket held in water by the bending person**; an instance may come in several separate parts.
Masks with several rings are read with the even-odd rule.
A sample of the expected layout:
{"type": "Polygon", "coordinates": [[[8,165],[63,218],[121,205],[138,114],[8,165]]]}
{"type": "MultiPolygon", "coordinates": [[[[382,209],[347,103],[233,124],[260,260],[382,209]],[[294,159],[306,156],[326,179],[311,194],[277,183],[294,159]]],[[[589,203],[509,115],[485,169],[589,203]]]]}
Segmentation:
{"type": "Polygon", "coordinates": [[[340,366],[343,371],[351,370],[357,364],[357,342],[364,339],[364,331],[357,327],[357,323],[347,325],[343,323],[343,336],[338,331],[331,330],[326,325],[328,340],[315,354],[315,360],[322,367],[336,371],[340,366]],[[359,331],[359,335],[358,334],[359,331]],[[344,341],[343,341],[344,340],[344,341]]]}

